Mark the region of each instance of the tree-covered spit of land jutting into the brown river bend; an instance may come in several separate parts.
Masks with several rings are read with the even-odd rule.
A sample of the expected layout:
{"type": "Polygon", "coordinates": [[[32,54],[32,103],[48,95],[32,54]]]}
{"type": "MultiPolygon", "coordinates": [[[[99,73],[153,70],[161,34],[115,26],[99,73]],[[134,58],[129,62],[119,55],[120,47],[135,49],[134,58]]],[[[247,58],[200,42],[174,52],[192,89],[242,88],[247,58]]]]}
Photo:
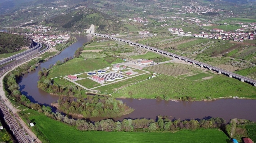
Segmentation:
{"type": "Polygon", "coordinates": [[[85,118],[114,118],[134,111],[121,100],[98,95],[88,95],[86,99],[82,98],[76,101],[73,98],[62,96],[58,100],[58,108],[69,114],[81,114],[85,118]]]}

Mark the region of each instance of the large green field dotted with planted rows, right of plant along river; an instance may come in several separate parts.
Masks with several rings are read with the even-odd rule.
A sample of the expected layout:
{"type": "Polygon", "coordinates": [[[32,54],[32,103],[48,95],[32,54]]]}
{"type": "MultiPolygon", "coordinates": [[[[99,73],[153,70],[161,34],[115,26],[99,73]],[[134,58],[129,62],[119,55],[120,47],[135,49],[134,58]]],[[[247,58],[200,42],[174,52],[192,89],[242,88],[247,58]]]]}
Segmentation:
{"type": "Polygon", "coordinates": [[[209,74],[213,75],[213,77],[202,81],[190,81],[172,76],[159,75],[136,85],[119,89],[112,96],[115,98],[132,97],[151,99],[154,99],[155,96],[163,95],[169,96],[171,99],[191,96],[196,100],[203,100],[209,96],[211,98],[228,96],[256,98],[256,88],[252,85],[239,82],[237,79],[228,78],[224,75],[209,74]]]}

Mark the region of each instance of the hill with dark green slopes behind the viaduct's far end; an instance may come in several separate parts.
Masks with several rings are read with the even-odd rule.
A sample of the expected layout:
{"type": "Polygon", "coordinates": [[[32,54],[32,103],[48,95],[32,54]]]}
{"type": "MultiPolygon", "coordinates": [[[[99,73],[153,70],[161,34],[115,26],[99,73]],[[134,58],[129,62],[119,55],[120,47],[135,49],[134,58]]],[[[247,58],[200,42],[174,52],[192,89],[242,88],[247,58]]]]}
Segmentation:
{"type": "MultiPolygon", "coordinates": [[[[66,12],[68,13],[68,12],[66,12]]],[[[52,19],[46,20],[46,24],[54,24],[63,30],[81,31],[90,28],[91,24],[99,26],[97,32],[119,31],[118,20],[110,15],[99,12],[95,9],[83,8],[76,11],[70,11],[68,14],[62,14],[52,19]]]]}

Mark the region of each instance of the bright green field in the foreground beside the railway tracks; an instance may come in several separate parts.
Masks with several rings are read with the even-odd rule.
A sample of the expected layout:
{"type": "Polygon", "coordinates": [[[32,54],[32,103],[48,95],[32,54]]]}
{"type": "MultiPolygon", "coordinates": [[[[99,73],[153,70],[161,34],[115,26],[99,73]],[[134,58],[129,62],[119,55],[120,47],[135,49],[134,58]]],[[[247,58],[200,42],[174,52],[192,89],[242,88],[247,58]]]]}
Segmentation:
{"type": "Polygon", "coordinates": [[[25,114],[22,118],[25,122],[25,118],[28,118],[35,123],[30,129],[43,143],[227,143],[228,140],[225,133],[216,129],[183,130],[175,133],[79,131],[32,109],[22,113],[25,114]]]}

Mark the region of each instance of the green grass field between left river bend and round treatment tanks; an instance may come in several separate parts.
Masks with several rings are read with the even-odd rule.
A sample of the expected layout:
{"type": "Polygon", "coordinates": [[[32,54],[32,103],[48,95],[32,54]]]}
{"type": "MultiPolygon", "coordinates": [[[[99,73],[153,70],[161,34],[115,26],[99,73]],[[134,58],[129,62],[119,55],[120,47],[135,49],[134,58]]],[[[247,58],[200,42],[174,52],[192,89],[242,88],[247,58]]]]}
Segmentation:
{"type": "Polygon", "coordinates": [[[68,74],[76,74],[80,72],[86,72],[96,69],[102,69],[111,66],[107,62],[103,62],[103,59],[87,59],[84,61],[83,58],[74,58],[66,63],[53,66],[49,71],[49,78],[65,76],[68,74]]]}

